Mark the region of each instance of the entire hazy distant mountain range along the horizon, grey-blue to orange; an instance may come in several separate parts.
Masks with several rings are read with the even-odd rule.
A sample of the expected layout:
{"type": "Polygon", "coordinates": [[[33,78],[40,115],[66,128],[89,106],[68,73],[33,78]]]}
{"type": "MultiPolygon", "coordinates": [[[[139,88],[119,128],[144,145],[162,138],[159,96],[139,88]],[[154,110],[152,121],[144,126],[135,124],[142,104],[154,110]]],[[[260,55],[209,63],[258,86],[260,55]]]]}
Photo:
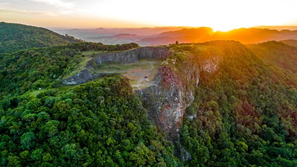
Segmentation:
{"type": "Polygon", "coordinates": [[[228,32],[215,32],[209,27],[56,29],[54,31],[90,42],[101,42],[103,44],[135,42],[142,46],[168,45],[176,41],[179,43],[192,43],[213,40],[235,40],[243,44],[255,44],[271,40],[297,40],[297,26],[259,27],[261,28],[240,28],[228,32]]]}

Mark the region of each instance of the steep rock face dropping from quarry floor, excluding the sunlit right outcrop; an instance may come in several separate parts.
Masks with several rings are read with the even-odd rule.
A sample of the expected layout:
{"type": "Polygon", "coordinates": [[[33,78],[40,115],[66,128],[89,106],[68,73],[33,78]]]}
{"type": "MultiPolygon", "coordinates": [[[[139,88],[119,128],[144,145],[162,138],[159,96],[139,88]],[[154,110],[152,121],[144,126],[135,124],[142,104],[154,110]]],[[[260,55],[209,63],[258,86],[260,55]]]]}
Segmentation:
{"type": "Polygon", "coordinates": [[[176,141],[178,138],[183,115],[194,101],[194,86],[198,82],[198,64],[186,63],[179,72],[161,65],[152,86],[136,90],[148,109],[148,116],[166,133],[167,140],[176,141]]]}

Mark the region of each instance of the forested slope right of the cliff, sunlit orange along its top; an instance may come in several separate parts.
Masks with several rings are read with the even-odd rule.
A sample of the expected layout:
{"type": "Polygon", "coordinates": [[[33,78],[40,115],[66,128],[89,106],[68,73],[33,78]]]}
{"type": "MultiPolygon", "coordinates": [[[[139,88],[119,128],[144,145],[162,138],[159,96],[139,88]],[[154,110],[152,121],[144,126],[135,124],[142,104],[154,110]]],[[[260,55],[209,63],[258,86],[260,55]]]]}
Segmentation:
{"type": "Polygon", "coordinates": [[[184,117],[181,145],[191,155],[186,166],[297,166],[297,75],[286,70],[297,54],[276,52],[290,48],[277,42],[254,47],[291,61],[274,66],[276,55],[262,59],[239,42],[172,45],[194,59],[222,57],[217,72],[200,74],[195,101],[184,117]]]}

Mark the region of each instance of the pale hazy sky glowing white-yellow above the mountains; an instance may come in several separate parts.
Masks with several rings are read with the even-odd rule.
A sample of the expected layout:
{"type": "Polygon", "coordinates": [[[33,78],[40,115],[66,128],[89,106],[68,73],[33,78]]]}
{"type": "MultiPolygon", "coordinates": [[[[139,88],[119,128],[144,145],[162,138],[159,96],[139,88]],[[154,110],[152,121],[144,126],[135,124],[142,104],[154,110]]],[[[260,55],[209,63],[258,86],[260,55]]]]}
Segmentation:
{"type": "Polygon", "coordinates": [[[0,0],[0,21],[42,27],[297,25],[297,0],[0,0]]]}

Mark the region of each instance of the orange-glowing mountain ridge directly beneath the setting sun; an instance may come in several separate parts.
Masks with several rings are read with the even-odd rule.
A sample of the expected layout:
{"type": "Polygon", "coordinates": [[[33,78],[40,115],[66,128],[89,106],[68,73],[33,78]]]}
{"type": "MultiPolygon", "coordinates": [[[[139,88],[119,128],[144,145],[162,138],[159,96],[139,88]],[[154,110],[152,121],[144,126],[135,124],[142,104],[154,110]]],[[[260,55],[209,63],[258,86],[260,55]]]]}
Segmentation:
{"type": "Polygon", "coordinates": [[[213,32],[211,28],[200,27],[179,31],[164,32],[157,36],[138,41],[141,45],[167,45],[179,41],[180,43],[205,42],[214,40],[234,40],[243,44],[255,44],[266,41],[281,41],[297,39],[297,30],[270,30],[261,28],[240,28],[228,32],[213,32]]]}

